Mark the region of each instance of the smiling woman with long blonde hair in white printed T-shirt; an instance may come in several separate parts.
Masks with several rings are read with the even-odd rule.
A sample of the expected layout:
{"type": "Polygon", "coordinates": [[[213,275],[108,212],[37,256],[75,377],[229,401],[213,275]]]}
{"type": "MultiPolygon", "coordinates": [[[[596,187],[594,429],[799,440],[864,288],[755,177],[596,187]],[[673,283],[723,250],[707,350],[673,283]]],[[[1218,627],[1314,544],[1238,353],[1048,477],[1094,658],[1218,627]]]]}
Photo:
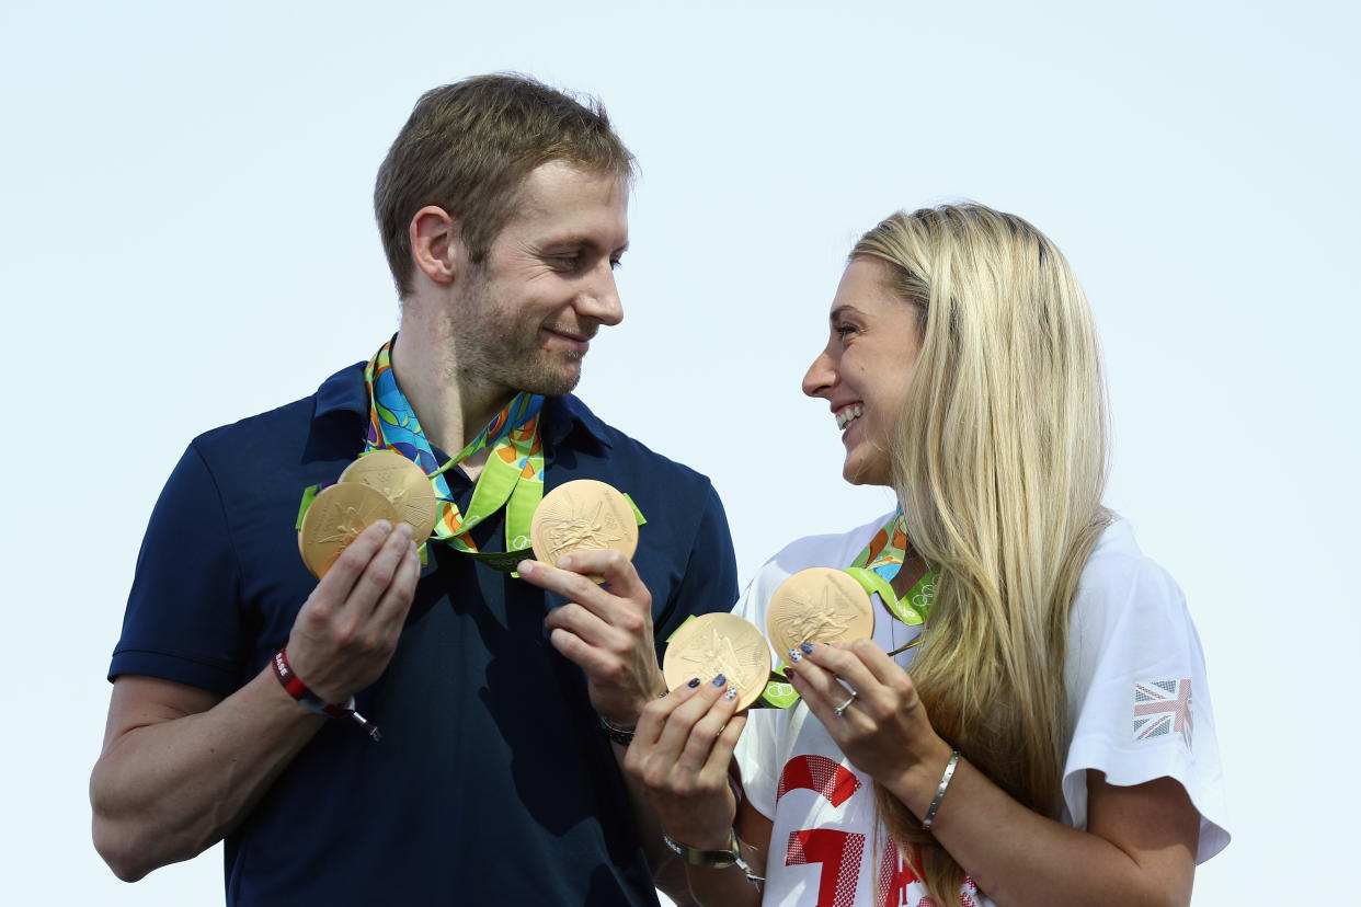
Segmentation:
{"type": "Polygon", "coordinates": [[[853,562],[906,606],[876,598],[872,640],[776,653],[791,708],[734,715],[715,679],[644,711],[626,767],[695,897],[1187,903],[1229,839],[1203,655],[1101,506],[1105,393],[1067,261],[983,205],[897,213],[851,253],[803,390],[845,479],[898,511],[787,547],[738,613],[764,628],[787,577],[853,562]],[[764,884],[715,868],[735,839],[764,884]]]}

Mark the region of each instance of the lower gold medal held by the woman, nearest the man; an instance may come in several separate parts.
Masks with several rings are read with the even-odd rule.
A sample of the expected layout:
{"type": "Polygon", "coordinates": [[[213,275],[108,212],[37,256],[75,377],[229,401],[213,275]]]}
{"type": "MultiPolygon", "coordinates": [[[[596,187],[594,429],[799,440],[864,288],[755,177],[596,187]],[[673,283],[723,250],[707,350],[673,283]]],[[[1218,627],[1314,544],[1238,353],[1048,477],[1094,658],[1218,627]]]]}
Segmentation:
{"type": "Polygon", "coordinates": [[[719,674],[738,688],[738,708],[746,708],[765,691],[770,677],[770,647],[750,620],[736,615],[700,615],[671,636],[661,660],[667,688],[698,677],[709,683],[719,674]]]}

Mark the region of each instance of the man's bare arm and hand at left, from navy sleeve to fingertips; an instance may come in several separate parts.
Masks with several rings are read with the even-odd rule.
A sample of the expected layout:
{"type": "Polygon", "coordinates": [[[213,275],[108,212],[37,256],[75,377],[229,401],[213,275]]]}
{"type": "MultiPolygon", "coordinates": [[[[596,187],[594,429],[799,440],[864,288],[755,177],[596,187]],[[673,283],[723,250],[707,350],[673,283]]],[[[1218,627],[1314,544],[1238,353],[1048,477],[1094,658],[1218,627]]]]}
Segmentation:
{"type": "MultiPolygon", "coordinates": [[[[293,668],[312,692],[344,702],[382,674],[419,575],[404,522],[380,519],[346,547],[289,635],[293,668]]],[[[199,854],[235,828],[325,721],[271,668],[220,700],[154,677],[118,677],[90,778],[95,849],[128,880],[199,854]]]]}

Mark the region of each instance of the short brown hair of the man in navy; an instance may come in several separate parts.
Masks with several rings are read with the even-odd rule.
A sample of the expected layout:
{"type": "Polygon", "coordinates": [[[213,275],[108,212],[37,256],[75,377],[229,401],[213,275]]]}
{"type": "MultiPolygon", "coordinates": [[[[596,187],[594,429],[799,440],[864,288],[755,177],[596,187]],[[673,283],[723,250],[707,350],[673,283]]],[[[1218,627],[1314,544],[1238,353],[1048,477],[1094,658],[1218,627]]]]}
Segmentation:
{"type": "Polygon", "coordinates": [[[480,262],[514,213],[524,178],[546,160],[630,179],[634,169],[595,98],[578,101],[513,73],[474,76],[421,95],[373,188],[397,292],[411,291],[410,227],[421,208],[444,208],[480,262]]]}

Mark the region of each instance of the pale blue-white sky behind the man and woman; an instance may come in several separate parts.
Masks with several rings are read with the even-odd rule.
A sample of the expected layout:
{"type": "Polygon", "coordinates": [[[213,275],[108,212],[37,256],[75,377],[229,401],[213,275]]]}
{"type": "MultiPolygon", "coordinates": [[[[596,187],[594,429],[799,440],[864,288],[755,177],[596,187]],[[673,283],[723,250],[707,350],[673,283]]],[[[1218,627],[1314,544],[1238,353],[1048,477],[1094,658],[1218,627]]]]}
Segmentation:
{"type": "MultiPolygon", "coordinates": [[[[495,69],[602,97],[642,178],[581,396],[709,475],[743,582],[886,491],[799,379],[896,208],[1030,219],[1083,281],[1108,503],[1184,587],[1229,849],[1200,906],[1346,897],[1361,335],[1356,4],[5,3],[11,362],[0,902],[211,904],[90,844],[133,562],[189,439],[310,393],[396,325],[374,171],[416,97],[495,69]],[[41,411],[41,412],[39,412],[41,411]],[[41,417],[39,417],[41,416],[41,417]]],[[[1198,691],[1199,695],[1199,691],[1198,691]]]]}

